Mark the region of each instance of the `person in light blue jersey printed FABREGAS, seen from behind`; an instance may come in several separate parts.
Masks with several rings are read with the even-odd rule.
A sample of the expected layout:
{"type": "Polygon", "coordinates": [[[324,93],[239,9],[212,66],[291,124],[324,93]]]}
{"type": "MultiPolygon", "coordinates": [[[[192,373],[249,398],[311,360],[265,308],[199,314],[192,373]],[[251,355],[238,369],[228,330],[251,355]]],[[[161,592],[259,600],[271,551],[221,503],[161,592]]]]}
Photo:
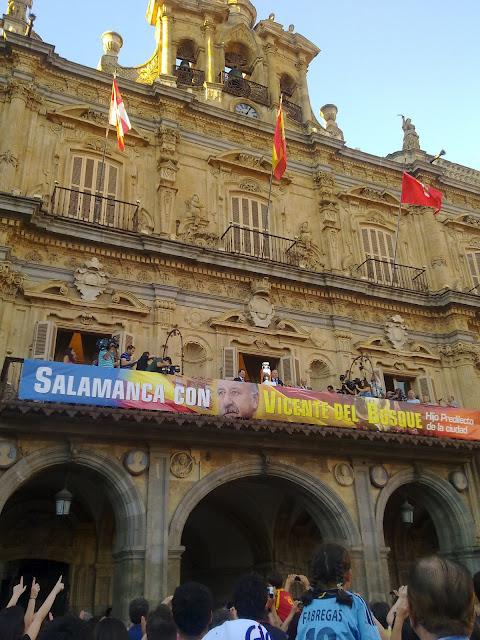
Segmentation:
{"type": "Polygon", "coordinates": [[[380,640],[373,615],[347,591],[350,556],[338,544],[322,544],[312,561],[311,589],[302,598],[297,640],[380,640]]]}

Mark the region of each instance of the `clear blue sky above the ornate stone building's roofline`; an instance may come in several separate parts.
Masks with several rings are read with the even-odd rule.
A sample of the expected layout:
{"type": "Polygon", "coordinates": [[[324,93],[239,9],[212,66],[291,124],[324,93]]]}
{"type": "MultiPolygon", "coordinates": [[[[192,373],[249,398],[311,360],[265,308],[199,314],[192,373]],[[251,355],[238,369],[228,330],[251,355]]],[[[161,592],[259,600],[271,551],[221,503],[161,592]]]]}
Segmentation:
{"type": "MultiPolygon", "coordinates": [[[[6,6],[6,0],[0,0],[6,6]]],[[[337,105],[350,147],[386,155],[401,148],[412,118],[422,149],[480,169],[480,0],[257,0],[285,27],[320,47],[309,72],[312,106],[337,105]]],[[[61,56],[96,66],[100,34],[124,39],[120,63],[153,51],[147,0],[34,0],[35,28],[61,56]]]]}

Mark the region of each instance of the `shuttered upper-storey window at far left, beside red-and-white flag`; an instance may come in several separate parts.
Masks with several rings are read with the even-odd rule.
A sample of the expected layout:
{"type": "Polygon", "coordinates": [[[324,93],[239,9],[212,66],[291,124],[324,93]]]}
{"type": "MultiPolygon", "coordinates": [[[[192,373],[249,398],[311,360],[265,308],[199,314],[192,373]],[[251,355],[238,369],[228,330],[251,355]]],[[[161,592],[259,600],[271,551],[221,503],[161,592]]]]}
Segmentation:
{"type": "Polygon", "coordinates": [[[85,222],[115,226],[119,170],[100,158],[73,156],[68,215],[85,222]]]}

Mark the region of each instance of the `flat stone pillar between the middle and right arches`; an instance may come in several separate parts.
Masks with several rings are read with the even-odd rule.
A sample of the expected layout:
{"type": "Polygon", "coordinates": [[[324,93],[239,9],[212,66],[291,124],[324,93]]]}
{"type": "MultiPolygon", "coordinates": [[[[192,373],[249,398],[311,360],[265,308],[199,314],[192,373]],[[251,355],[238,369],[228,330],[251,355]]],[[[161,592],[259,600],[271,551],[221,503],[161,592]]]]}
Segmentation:
{"type": "Polygon", "coordinates": [[[379,536],[375,521],[375,506],[372,496],[368,465],[354,463],[355,496],[358,508],[358,524],[362,535],[365,576],[364,597],[370,602],[384,600],[388,593],[388,575],[384,575],[380,555],[379,536]]]}

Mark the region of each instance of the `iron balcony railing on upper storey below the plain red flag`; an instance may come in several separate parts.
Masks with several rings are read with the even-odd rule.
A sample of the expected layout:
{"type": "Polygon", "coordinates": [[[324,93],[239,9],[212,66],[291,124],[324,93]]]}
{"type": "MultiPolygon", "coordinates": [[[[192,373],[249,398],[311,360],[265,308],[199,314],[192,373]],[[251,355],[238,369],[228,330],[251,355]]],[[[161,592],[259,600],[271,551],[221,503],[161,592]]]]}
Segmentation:
{"type": "Polygon", "coordinates": [[[375,284],[428,293],[425,269],[394,264],[393,261],[367,258],[357,267],[359,276],[375,284]]]}

